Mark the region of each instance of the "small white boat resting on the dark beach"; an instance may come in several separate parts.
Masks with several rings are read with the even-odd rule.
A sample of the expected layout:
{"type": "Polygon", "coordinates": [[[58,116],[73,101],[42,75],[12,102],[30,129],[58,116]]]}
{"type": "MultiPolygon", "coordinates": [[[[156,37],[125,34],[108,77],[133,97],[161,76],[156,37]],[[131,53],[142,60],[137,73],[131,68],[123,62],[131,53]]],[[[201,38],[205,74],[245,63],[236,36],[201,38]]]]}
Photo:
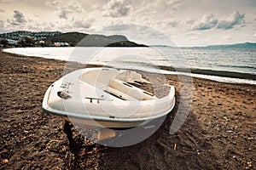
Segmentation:
{"type": "Polygon", "coordinates": [[[68,73],[44,94],[44,111],[92,127],[136,127],[166,116],[175,105],[175,88],[163,98],[134,86],[150,83],[136,71],[86,68],[68,73]]]}

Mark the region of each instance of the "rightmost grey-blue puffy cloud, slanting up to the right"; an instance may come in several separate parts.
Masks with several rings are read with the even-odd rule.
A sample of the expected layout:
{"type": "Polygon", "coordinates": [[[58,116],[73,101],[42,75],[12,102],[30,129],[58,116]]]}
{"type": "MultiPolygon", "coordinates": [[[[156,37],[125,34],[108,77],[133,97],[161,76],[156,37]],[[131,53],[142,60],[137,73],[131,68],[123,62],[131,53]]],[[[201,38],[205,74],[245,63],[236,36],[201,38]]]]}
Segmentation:
{"type": "Polygon", "coordinates": [[[224,17],[218,21],[217,28],[229,30],[234,28],[234,26],[239,26],[244,23],[245,14],[240,14],[237,10],[228,17],[224,17]]]}

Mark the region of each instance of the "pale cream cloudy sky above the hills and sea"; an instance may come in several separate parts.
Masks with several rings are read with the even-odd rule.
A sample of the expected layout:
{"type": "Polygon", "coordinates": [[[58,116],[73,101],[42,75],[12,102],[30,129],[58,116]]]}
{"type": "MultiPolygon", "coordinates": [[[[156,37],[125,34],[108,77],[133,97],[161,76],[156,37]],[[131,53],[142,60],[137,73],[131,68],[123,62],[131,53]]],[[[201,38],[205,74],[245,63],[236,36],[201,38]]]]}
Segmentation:
{"type": "Polygon", "coordinates": [[[255,0],[0,0],[0,33],[81,31],[178,47],[256,42],[255,0]]]}

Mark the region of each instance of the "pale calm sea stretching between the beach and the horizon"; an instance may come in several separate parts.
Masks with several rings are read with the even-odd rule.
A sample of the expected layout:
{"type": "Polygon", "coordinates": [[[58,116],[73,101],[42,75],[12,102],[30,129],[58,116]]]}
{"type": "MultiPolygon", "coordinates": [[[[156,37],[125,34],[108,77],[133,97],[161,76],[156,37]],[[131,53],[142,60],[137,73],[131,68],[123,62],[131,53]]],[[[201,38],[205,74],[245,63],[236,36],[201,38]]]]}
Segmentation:
{"type": "Polygon", "coordinates": [[[5,52],[122,69],[256,84],[256,48],[8,48],[5,52]]]}

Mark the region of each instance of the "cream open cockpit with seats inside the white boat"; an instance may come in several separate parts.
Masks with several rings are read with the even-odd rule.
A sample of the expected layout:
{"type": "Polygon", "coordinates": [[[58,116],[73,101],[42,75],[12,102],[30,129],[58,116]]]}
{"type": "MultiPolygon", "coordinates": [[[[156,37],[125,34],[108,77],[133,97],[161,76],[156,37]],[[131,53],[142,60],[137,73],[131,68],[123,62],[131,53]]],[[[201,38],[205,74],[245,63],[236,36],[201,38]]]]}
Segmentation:
{"type": "Polygon", "coordinates": [[[150,83],[135,71],[93,70],[82,74],[80,80],[123,100],[150,100],[156,98],[154,94],[138,88],[139,86],[134,86],[134,84],[150,83]]]}

